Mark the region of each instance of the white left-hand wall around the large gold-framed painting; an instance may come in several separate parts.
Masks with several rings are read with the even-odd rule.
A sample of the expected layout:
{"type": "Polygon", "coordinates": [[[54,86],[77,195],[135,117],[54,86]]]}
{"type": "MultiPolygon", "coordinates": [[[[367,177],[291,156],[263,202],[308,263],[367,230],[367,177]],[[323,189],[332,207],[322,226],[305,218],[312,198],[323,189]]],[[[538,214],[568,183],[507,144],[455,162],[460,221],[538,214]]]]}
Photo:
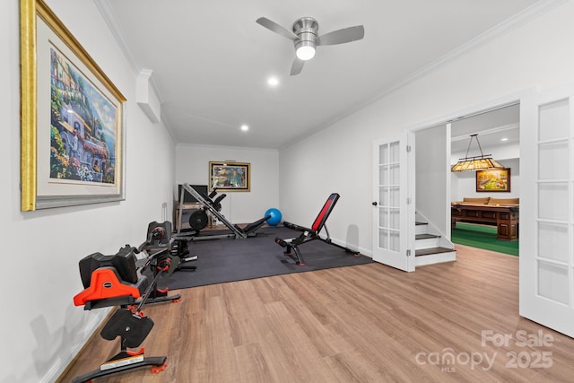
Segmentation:
{"type": "MultiPolygon", "coordinates": [[[[93,252],[114,254],[139,245],[147,224],[171,208],[175,144],[164,126],[152,124],[135,104],[135,79],[92,0],[49,0],[83,48],[126,96],[126,201],[20,211],[20,16],[19,1],[0,4],[0,382],[54,381],[105,316],[84,311],[73,297],[83,289],[78,261],[93,252]]],[[[39,158],[39,161],[48,159],[39,158]]]]}

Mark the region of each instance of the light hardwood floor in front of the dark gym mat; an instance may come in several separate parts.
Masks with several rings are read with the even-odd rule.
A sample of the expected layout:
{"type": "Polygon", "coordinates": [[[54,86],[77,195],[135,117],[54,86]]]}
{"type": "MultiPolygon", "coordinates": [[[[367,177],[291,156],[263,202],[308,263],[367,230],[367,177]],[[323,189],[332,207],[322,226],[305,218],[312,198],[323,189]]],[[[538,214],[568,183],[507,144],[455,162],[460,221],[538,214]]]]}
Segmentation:
{"type": "MultiPolygon", "coordinates": [[[[146,355],[166,370],[95,381],[574,381],[574,339],[518,316],[518,258],[487,250],[457,246],[457,262],[414,273],[356,265],[178,292],[144,310],[146,355]]],[[[117,351],[94,337],[61,381],[117,351]]]]}

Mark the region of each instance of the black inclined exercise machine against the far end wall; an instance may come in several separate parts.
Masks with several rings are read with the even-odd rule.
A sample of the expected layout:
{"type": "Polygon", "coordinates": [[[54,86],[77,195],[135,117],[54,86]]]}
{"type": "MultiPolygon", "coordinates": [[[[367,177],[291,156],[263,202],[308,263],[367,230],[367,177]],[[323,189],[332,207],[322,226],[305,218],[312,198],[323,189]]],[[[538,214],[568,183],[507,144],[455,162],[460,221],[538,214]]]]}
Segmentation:
{"type": "Polygon", "coordinates": [[[222,200],[225,198],[225,194],[217,194],[217,189],[213,189],[213,191],[209,194],[209,196],[205,196],[204,194],[198,192],[194,187],[191,187],[189,184],[184,183],[181,187],[181,193],[179,196],[179,206],[183,206],[184,204],[184,197],[185,192],[188,192],[194,198],[196,198],[197,202],[199,202],[204,207],[201,209],[196,209],[189,215],[189,231],[186,233],[181,229],[181,219],[182,219],[182,211],[183,209],[179,209],[178,215],[178,233],[177,238],[187,238],[189,240],[200,240],[200,239],[222,239],[222,238],[234,238],[234,239],[244,239],[248,237],[255,237],[257,235],[256,231],[267,222],[271,215],[266,215],[265,217],[257,220],[256,222],[249,223],[247,226],[241,228],[238,225],[234,225],[231,223],[223,214],[221,213],[222,210],[222,200]],[[226,231],[225,233],[219,233],[213,231],[211,234],[204,234],[200,235],[200,231],[202,231],[205,227],[207,227],[207,223],[209,222],[209,217],[207,212],[210,212],[215,216],[219,221],[221,221],[230,231],[226,231]]]}

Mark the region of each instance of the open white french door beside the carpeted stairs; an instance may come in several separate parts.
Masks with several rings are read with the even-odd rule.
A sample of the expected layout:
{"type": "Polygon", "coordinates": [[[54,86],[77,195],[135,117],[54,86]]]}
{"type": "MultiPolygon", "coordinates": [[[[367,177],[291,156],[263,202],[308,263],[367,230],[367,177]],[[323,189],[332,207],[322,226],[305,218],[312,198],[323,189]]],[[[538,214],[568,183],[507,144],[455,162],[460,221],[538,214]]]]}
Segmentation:
{"type": "Polygon", "coordinates": [[[404,271],[414,271],[415,265],[409,193],[414,189],[414,151],[409,141],[413,143],[413,135],[404,133],[373,143],[373,260],[404,271]]]}

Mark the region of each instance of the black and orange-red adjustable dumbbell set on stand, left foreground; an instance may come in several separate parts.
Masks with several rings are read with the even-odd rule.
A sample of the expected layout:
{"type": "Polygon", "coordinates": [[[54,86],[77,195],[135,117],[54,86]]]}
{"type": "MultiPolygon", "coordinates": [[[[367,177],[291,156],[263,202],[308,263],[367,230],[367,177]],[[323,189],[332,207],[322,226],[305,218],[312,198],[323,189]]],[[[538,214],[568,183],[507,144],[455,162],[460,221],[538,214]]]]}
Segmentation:
{"type": "Polygon", "coordinates": [[[74,305],[86,310],[118,306],[100,335],[110,341],[119,336],[121,342],[119,353],[102,363],[99,369],[74,378],[74,383],[144,366],[151,366],[153,373],[166,368],[166,356],[145,357],[143,348],[136,352],[128,351],[128,348],[139,347],[152,331],[153,321],[143,315],[143,305],[181,300],[179,294],[168,295],[168,289],[157,287],[158,279],[171,267],[166,235],[170,230],[170,222],[152,222],[148,227],[148,238],[140,248],[126,245],[112,256],[93,253],[80,260],[84,290],[74,296],[74,305]],[[148,256],[138,259],[136,254],[143,254],[142,250],[148,256]]]}

